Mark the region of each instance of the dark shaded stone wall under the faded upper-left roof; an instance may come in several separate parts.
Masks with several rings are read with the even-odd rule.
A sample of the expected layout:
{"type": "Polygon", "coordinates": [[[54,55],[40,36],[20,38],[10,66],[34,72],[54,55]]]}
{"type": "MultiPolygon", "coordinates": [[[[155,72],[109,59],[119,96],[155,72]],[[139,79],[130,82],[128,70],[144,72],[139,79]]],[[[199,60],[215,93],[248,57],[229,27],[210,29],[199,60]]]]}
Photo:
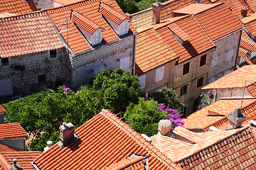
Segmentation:
{"type": "Polygon", "coordinates": [[[55,82],[68,84],[66,56],[62,48],[58,49],[58,55],[53,59],[50,59],[49,51],[9,57],[9,66],[0,66],[0,80],[11,79],[14,96],[26,96],[46,88],[55,89],[55,82]],[[46,75],[46,83],[38,83],[38,75],[43,74],[46,75]]]}

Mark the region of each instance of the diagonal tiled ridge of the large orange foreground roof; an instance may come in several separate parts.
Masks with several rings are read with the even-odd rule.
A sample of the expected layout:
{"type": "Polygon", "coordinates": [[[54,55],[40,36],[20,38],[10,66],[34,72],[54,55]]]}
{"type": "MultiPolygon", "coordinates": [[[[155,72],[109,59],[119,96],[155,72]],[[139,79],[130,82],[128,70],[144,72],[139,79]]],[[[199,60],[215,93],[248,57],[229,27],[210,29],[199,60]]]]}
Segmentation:
{"type": "Polygon", "coordinates": [[[139,144],[141,146],[144,145],[147,149],[151,150],[151,153],[154,154],[154,157],[156,157],[156,159],[161,159],[162,162],[164,164],[166,164],[166,166],[168,166],[169,168],[173,168],[173,169],[175,169],[175,167],[177,166],[178,168],[181,169],[181,166],[179,166],[178,164],[174,164],[174,162],[172,162],[171,159],[166,157],[165,154],[161,153],[159,151],[159,149],[156,149],[156,147],[154,147],[154,145],[151,145],[151,143],[146,141],[144,139],[144,137],[142,137],[142,135],[140,135],[138,132],[133,130],[129,125],[127,125],[122,120],[120,120],[117,117],[117,115],[114,115],[108,109],[106,110],[104,108],[102,108],[102,112],[100,112],[100,114],[103,115],[108,120],[110,120],[114,125],[119,125],[119,128],[121,130],[123,130],[125,133],[127,133],[127,135],[134,138],[134,140],[137,141],[137,144],[139,144]]]}

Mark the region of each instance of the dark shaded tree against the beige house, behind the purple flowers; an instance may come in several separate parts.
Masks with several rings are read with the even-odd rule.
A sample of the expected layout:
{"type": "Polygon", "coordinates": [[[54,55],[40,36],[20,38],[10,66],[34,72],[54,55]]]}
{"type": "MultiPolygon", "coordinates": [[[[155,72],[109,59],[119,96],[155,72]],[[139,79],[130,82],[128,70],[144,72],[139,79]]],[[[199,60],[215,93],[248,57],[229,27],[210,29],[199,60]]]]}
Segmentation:
{"type": "Polygon", "coordinates": [[[154,98],[154,100],[159,103],[164,103],[166,106],[173,109],[184,106],[184,104],[178,99],[176,92],[173,89],[168,89],[166,87],[161,91],[149,93],[149,98],[154,98]]]}

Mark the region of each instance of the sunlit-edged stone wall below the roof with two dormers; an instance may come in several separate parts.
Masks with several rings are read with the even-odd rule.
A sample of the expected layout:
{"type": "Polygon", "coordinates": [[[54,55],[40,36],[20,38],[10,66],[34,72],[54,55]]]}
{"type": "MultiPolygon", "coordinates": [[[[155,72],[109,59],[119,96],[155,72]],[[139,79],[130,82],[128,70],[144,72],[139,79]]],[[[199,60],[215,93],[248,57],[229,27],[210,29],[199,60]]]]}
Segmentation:
{"type": "Polygon", "coordinates": [[[127,38],[119,39],[116,42],[95,47],[94,50],[85,52],[84,54],[71,57],[71,65],[73,69],[72,87],[76,88],[81,84],[89,81],[95,74],[97,67],[103,66],[103,69],[114,70],[120,67],[119,60],[123,57],[129,57],[130,74],[134,67],[134,36],[129,35],[127,38]]]}

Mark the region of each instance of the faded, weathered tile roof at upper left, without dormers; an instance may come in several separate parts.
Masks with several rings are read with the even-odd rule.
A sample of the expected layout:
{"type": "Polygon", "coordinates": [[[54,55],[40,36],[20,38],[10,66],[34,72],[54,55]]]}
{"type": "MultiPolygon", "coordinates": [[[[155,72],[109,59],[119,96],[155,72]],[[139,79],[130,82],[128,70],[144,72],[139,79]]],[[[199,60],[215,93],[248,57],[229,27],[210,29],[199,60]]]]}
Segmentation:
{"type": "Polygon", "coordinates": [[[0,18],[0,57],[63,47],[46,12],[0,18]]]}

